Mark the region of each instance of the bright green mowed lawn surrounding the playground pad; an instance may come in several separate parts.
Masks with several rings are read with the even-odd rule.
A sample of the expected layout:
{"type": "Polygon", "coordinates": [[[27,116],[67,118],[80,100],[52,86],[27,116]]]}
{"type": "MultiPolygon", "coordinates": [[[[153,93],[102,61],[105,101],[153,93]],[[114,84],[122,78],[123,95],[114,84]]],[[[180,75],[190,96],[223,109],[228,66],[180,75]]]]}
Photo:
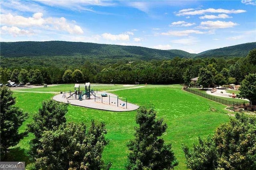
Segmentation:
{"type": "MultiPolygon", "coordinates": [[[[73,91],[73,87],[74,85],[59,85],[37,88],[35,91],[73,91]]],[[[186,169],[186,159],[181,148],[182,143],[192,146],[193,143],[198,143],[198,136],[206,137],[208,134],[212,134],[220,123],[229,120],[228,115],[226,115],[227,111],[224,110],[226,106],[182,91],[182,86],[179,85],[147,85],[136,89],[130,88],[122,85],[102,85],[94,89],[99,91],[121,89],[110,93],[125,97],[128,102],[137,105],[154,105],[158,112],[157,118],[163,118],[168,125],[168,129],[162,137],[166,143],[172,143],[172,149],[179,161],[179,165],[175,169],[186,169]]],[[[29,91],[32,91],[32,88],[29,91]]],[[[43,100],[54,96],[51,93],[24,92],[14,92],[14,95],[17,97],[16,106],[28,111],[30,114],[30,119],[26,123],[32,120],[31,115],[38,111],[43,100]]],[[[126,144],[130,139],[134,138],[134,127],[137,126],[134,120],[135,114],[136,111],[110,112],[70,105],[66,119],[67,121],[85,122],[88,126],[92,119],[105,122],[108,131],[106,138],[110,142],[104,149],[103,159],[106,162],[111,161],[113,163],[112,169],[124,169],[129,153],[126,144]]],[[[26,123],[20,130],[25,129],[26,123]]],[[[28,141],[31,138],[33,136],[30,134],[16,146],[16,148],[20,147],[19,149],[25,152],[25,156],[29,147],[28,141]]]]}

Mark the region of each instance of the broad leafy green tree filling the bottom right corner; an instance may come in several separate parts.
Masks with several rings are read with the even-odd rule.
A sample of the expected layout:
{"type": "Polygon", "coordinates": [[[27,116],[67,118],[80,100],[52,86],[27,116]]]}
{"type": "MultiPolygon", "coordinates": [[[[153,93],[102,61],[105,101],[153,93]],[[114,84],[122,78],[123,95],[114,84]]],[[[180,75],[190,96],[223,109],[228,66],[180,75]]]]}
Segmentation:
{"type": "Polygon", "coordinates": [[[214,136],[199,138],[192,149],[183,145],[188,168],[256,169],[256,119],[236,114],[229,123],[221,124],[214,136]]]}

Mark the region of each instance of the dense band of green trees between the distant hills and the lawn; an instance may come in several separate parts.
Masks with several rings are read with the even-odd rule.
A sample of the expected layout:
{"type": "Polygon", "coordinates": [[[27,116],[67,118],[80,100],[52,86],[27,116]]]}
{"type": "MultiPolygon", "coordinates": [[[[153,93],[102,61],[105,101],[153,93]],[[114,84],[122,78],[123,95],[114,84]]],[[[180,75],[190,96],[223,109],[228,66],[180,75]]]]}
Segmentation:
{"type": "Polygon", "coordinates": [[[73,66],[0,67],[1,83],[8,80],[33,84],[51,83],[190,83],[194,77],[208,77],[200,80],[201,85],[215,83],[240,83],[249,73],[256,73],[256,49],[244,58],[188,59],[174,57],[169,60],[151,61],[85,61],[73,66]],[[207,70],[207,71],[206,71],[207,70]],[[201,76],[200,76],[201,75],[201,76]]]}

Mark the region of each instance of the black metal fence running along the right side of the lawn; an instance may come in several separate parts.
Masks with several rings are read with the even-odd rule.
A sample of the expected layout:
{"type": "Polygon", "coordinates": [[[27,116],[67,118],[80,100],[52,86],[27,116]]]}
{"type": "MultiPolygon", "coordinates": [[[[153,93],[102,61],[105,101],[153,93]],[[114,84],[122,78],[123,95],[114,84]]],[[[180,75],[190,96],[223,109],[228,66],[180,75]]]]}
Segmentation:
{"type": "Polygon", "coordinates": [[[225,100],[225,99],[221,99],[219,97],[216,97],[216,96],[213,96],[213,95],[208,95],[206,93],[202,93],[200,91],[196,91],[194,89],[191,89],[191,88],[184,88],[184,90],[190,92],[190,93],[194,93],[196,95],[199,95],[199,96],[202,96],[202,97],[205,97],[207,99],[210,99],[210,100],[213,100],[213,101],[216,101],[218,103],[222,103],[223,105],[228,105],[228,106],[234,106],[234,105],[244,105],[245,102],[235,102],[235,101],[228,101],[228,100],[225,100]]]}

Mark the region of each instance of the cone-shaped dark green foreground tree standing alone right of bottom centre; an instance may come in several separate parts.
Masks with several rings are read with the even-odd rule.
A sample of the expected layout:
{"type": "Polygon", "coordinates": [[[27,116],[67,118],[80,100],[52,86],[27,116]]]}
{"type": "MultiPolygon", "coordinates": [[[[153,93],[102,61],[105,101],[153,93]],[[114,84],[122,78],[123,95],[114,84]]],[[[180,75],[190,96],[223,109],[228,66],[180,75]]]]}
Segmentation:
{"type": "Polygon", "coordinates": [[[140,107],[136,114],[135,139],[127,146],[131,151],[128,155],[126,169],[171,169],[178,165],[171,144],[164,144],[159,138],[166,131],[167,125],[163,119],[156,120],[153,107],[140,107]]]}

